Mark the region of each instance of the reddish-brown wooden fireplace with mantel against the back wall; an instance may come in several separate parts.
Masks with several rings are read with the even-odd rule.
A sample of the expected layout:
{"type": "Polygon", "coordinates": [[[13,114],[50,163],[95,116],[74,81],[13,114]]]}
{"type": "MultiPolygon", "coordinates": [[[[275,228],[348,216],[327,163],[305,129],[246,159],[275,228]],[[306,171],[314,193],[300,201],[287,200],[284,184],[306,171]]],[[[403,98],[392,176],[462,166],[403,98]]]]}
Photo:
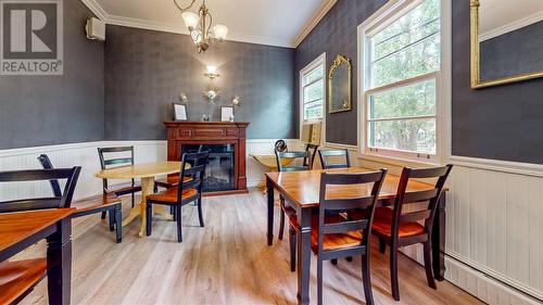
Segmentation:
{"type": "Polygon", "coordinates": [[[168,161],[185,152],[209,151],[204,194],[247,193],[245,130],[243,122],[165,122],[168,161]]]}

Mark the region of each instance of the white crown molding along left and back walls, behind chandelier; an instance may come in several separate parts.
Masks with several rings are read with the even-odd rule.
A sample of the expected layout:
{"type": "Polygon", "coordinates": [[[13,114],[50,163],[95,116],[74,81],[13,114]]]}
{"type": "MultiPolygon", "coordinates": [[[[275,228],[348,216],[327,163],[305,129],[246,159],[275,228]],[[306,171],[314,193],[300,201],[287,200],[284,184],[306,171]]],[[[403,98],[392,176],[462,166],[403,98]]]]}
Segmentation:
{"type": "MultiPolygon", "coordinates": [[[[189,31],[185,28],[182,23],[172,24],[172,23],[153,22],[141,18],[131,18],[118,15],[111,15],[108,14],[105,10],[96,0],[81,0],[81,2],[85,3],[89,8],[89,10],[91,10],[92,13],[94,13],[100,20],[102,20],[109,25],[119,25],[119,26],[141,28],[141,29],[151,29],[151,30],[189,35],[189,31]]],[[[263,36],[243,35],[239,33],[229,34],[228,39],[226,40],[281,47],[281,48],[294,48],[294,46],[292,46],[289,39],[276,39],[263,36]]]]}

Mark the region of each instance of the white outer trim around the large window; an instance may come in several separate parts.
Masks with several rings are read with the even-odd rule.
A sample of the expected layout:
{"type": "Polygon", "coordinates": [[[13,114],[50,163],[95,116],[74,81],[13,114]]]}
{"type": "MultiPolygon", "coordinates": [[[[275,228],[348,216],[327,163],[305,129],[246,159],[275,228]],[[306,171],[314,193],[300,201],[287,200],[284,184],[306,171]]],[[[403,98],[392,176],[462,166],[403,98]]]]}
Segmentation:
{"type": "MultiPolygon", "coordinates": [[[[390,0],[374,15],[358,25],[357,29],[357,134],[358,134],[358,157],[376,162],[387,162],[391,164],[443,164],[449,162],[451,156],[451,0],[441,0],[441,69],[435,73],[435,155],[430,160],[417,157],[417,153],[399,153],[397,151],[379,149],[377,152],[369,152],[366,147],[366,106],[365,97],[371,90],[367,90],[367,75],[365,62],[367,62],[367,36],[380,30],[397,18],[393,16],[403,15],[418,5],[422,0],[390,0]],[[362,48],[364,46],[364,48],[362,48]],[[364,132],[362,132],[364,130],[364,132]]],[[[420,77],[428,77],[422,75],[420,77]]],[[[411,82],[412,79],[408,80],[411,82]]],[[[382,89],[382,88],[381,88],[382,89]]]]}

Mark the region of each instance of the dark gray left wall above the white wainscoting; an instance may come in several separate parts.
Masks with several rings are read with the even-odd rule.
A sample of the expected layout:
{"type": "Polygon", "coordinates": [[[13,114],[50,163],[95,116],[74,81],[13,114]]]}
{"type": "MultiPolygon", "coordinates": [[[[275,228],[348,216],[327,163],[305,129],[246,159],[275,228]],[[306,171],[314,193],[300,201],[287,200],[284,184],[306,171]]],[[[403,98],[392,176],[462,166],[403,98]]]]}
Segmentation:
{"type": "Polygon", "coordinates": [[[0,149],[103,139],[103,43],[86,38],[87,7],[63,3],[64,75],[0,76],[0,149]]]}

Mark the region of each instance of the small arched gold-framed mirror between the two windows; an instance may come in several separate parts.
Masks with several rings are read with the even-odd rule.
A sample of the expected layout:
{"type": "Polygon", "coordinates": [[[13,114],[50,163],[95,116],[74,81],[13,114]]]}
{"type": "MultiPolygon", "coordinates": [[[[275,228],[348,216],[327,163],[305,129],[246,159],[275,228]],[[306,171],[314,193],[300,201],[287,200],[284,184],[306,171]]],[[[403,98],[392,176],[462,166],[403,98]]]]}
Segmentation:
{"type": "Polygon", "coordinates": [[[351,60],[339,54],[328,74],[328,113],[352,109],[352,75],[351,60]]]}

